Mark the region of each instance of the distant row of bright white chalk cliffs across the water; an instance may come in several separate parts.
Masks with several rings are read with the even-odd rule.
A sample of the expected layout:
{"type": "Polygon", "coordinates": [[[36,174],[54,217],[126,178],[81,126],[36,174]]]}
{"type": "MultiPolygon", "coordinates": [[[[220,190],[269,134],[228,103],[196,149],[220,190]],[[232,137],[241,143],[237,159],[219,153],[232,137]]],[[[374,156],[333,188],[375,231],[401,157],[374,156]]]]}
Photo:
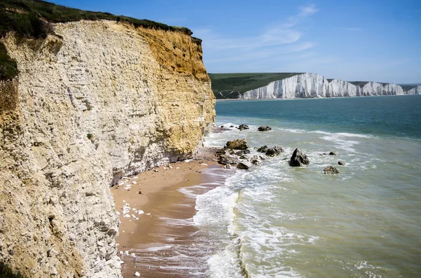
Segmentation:
{"type": "MultiPolygon", "coordinates": [[[[420,86],[419,86],[420,87],[420,86]]],[[[242,99],[295,99],[312,97],[357,97],[373,95],[415,95],[420,90],[403,91],[400,85],[368,82],[363,86],[328,79],[319,74],[298,74],[274,81],[268,85],[244,92],[242,99]]]]}

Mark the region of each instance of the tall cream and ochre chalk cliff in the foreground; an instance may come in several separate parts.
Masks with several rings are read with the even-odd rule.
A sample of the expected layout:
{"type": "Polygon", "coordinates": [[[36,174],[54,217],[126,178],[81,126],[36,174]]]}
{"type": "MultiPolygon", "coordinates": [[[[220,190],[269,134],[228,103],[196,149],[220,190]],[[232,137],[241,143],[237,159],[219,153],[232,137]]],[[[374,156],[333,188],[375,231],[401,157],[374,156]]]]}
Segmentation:
{"type": "Polygon", "coordinates": [[[0,261],[27,277],[121,277],[109,186],[192,156],[215,118],[201,44],[111,21],[2,41],[0,261]]]}

